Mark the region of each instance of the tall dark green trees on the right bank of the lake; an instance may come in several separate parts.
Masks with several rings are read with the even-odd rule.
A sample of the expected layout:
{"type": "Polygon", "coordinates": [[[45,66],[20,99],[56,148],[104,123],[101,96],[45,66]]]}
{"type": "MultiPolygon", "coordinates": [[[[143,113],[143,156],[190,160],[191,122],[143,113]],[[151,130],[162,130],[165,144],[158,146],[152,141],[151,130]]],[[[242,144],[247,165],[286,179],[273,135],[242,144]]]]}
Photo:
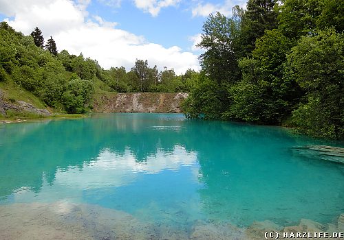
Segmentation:
{"type": "Polygon", "coordinates": [[[292,125],[344,137],[344,1],[249,0],[211,14],[189,118],[292,125]]]}

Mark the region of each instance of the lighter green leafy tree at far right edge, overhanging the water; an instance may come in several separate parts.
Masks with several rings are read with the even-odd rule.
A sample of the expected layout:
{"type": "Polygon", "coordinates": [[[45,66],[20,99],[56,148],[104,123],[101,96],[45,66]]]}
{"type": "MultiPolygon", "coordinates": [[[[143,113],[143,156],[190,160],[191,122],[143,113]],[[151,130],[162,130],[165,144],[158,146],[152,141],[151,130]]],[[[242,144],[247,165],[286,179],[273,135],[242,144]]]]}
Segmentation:
{"type": "Polygon", "coordinates": [[[305,36],[292,48],[288,64],[306,91],[306,101],[293,112],[301,132],[344,137],[344,35],[334,29],[305,36]]]}

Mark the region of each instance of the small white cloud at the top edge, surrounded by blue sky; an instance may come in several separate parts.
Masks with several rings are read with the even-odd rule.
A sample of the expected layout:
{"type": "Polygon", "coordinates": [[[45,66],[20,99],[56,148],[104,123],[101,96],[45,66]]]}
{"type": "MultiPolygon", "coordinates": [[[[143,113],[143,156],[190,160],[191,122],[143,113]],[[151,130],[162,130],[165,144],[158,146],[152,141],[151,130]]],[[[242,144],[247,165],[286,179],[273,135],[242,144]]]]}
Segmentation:
{"type": "Polygon", "coordinates": [[[175,6],[181,0],[134,0],[136,8],[149,12],[152,16],[158,16],[162,8],[175,6]]]}

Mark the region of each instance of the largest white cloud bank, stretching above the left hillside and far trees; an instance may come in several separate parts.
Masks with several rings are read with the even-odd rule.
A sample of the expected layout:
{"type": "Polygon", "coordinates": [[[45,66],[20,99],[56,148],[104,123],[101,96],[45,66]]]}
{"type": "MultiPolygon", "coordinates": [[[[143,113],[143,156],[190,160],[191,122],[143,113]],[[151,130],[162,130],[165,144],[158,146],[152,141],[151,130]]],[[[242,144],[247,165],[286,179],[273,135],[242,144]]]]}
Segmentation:
{"type": "MultiPolygon", "coordinates": [[[[162,8],[175,2],[165,0],[158,5],[162,8]]],[[[117,23],[100,16],[86,20],[87,4],[89,0],[0,0],[0,12],[14,16],[6,21],[17,31],[30,34],[34,27],[39,27],[45,39],[54,38],[58,50],[83,53],[98,60],[105,69],[124,66],[129,70],[136,59],[147,59],[149,65],[156,64],[160,69],[173,68],[176,73],[200,69],[197,55],[180,47],[149,43],[143,36],[114,28],[117,23]]]]}

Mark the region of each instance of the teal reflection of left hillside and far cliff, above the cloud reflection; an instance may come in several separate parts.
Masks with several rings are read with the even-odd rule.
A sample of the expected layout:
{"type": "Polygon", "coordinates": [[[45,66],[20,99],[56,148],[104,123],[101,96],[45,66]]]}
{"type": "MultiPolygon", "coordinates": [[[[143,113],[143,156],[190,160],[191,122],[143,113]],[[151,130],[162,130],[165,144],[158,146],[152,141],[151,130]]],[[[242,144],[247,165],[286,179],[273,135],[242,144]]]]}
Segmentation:
{"type": "Polygon", "coordinates": [[[45,180],[52,184],[57,169],[83,167],[102,151],[125,154],[129,149],[138,162],[158,149],[173,151],[187,139],[185,128],[163,130],[154,126],[181,127],[184,121],[156,115],[107,115],[94,119],[3,125],[0,129],[0,196],[14,189],[39,191],[45,180]]]}

